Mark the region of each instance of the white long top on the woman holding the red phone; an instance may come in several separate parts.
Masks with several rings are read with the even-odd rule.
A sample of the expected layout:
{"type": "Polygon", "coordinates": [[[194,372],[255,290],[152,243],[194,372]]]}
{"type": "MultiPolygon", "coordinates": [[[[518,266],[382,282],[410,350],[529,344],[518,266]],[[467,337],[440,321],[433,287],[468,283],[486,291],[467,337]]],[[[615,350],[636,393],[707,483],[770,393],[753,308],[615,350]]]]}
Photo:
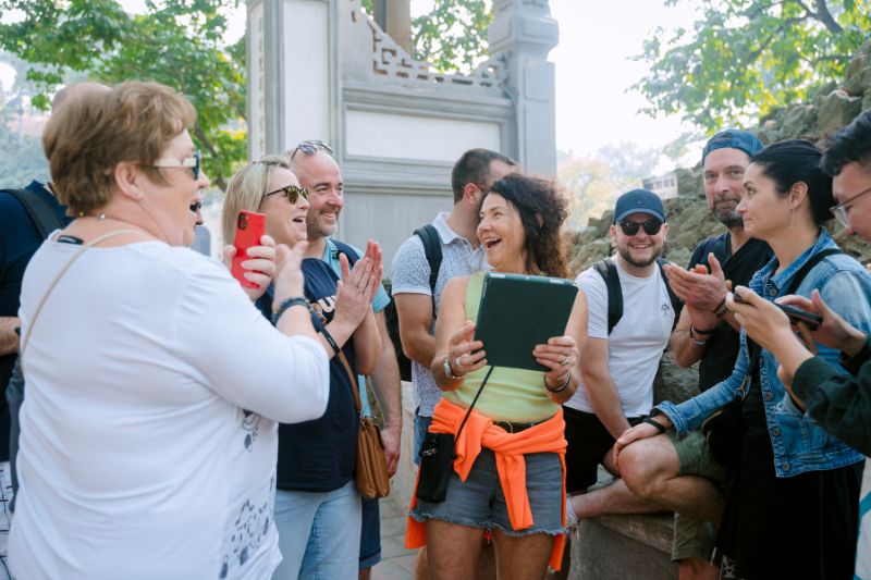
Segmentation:
{"type": "MultiPolygon", "coordinates": [[[[78,249],[46,242],[34,255],[22,335],[78,249]]],[[[272,575],[275,421],[323,414],[317,342],[273,329],[218,262],[145,242],[73,263],[23,362],[15,577],[272,575]]]]}

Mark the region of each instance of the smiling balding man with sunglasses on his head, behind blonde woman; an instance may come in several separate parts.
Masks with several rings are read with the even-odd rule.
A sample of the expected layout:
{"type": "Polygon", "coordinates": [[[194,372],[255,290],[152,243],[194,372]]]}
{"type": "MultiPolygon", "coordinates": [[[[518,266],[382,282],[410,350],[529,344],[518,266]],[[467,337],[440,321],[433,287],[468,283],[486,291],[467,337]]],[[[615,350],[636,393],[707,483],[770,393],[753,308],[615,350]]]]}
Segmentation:
{"type": "MultiPolygon", "coordinates": [[[[332,148],[321,140],[305,140],[285,153],[291,160],[293,172],[299,184],[308,192],[308,214],[306,224],[308,230],[308,249],[306,258],[319,258],[330,264],[335,274],[341,277],[342,269],[339,255],[353,252],[354,258],[359,258],[359,249],[332,239],[339,227],[339,217],[345,205],[344,183],[339,164],[332,157],[332,148]]],[[[402,387],[400,383],[400,369],[396,365],[396,355],[393,343],[384,321],[384,308],[390,303],[390,297],[383,286],[378,288],[378,294],[372,299],[376,323],[381,336],[381,357],[375,374],[371,375],[372,390],[378,398],[379,407],[384,419],[381,437],[384,442],[384,454],[388,460],[388,471],[392,476],[396,471],[400,459],[400,436],[402,433],[402,387]]],[[[366,381],[359,377],[360,398],[364,414],[370,415],[369,402],[366,398],[366,381]]],[[[278,522],[277,522],[278,523],[278,522]]],[[[379,517],[378,499],[363,499],[363,527],[359,550],[359,578],[369,578],[371,567],[381,560],[381,523],[379,517]]],[[[333,555],[339,557],[341,546],[334,546],[333,555]]]]}

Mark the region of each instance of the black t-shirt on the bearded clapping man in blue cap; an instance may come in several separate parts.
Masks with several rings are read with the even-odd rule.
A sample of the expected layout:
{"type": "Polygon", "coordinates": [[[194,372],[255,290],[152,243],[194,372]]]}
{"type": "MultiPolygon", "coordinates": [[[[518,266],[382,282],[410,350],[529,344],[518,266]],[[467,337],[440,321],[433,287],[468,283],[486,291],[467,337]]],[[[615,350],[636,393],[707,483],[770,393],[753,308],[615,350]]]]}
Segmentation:
{"type": "MultiPolygon", "coordinates": [[[[773,256],[769,245],[761,239],[750,238],[738,251],[732,254],[732,239],[728,232],[709,237],[696,246],[687,269],[697,263],[708,266],[708,254],[713,252],[723,267],[723,275],[732,281],[732,286],[746,286],[757,270],[765,266],[773,256]]],[[[710,271],[710,267],[708,268],[710,271]]],[[[738,332],[727,322],[721,321],[708,338],[704,356],[699,362],[699,391],[703,392],[725,380],[735,369],[740,347],[738,332]]]]}

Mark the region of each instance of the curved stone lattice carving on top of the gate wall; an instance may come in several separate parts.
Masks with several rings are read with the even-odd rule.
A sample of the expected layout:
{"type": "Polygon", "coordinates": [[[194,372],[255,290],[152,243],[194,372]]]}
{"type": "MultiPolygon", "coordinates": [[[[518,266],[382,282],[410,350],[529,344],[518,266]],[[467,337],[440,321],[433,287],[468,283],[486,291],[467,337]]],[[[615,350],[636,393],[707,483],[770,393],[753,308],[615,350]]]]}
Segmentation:
{"type": "Polygon", "coordinates": [[[470,74],[445,74],[433,71],[429,63],[415,60],[396,44],[360,8],[360,0],[349,0],[354,26],[369,27],[372,38],[372,74],[424,84],[499,88],[506,76],[505,57],[495,54],[470,74]]]}

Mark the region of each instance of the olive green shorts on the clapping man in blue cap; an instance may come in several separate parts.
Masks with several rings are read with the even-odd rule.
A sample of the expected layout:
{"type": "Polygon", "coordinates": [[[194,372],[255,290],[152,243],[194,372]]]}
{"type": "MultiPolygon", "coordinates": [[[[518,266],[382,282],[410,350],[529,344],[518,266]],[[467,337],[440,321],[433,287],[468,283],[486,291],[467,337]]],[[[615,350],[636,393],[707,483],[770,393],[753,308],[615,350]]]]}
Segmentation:
{"type": "MultiPolygon", "coordinates": [[[[729,485],[729,471],[714,459],[701,431],[690,431],[684,439],[677,439],[674,431],[667,431],[666,435],[677,453],[678,474],[706,478],[721,489],[729,485]]],[[[699,558],[710,562],[716,540],[716,529],[717,525],[712,521],[676,513],[672,560],[699,558]]]]}

